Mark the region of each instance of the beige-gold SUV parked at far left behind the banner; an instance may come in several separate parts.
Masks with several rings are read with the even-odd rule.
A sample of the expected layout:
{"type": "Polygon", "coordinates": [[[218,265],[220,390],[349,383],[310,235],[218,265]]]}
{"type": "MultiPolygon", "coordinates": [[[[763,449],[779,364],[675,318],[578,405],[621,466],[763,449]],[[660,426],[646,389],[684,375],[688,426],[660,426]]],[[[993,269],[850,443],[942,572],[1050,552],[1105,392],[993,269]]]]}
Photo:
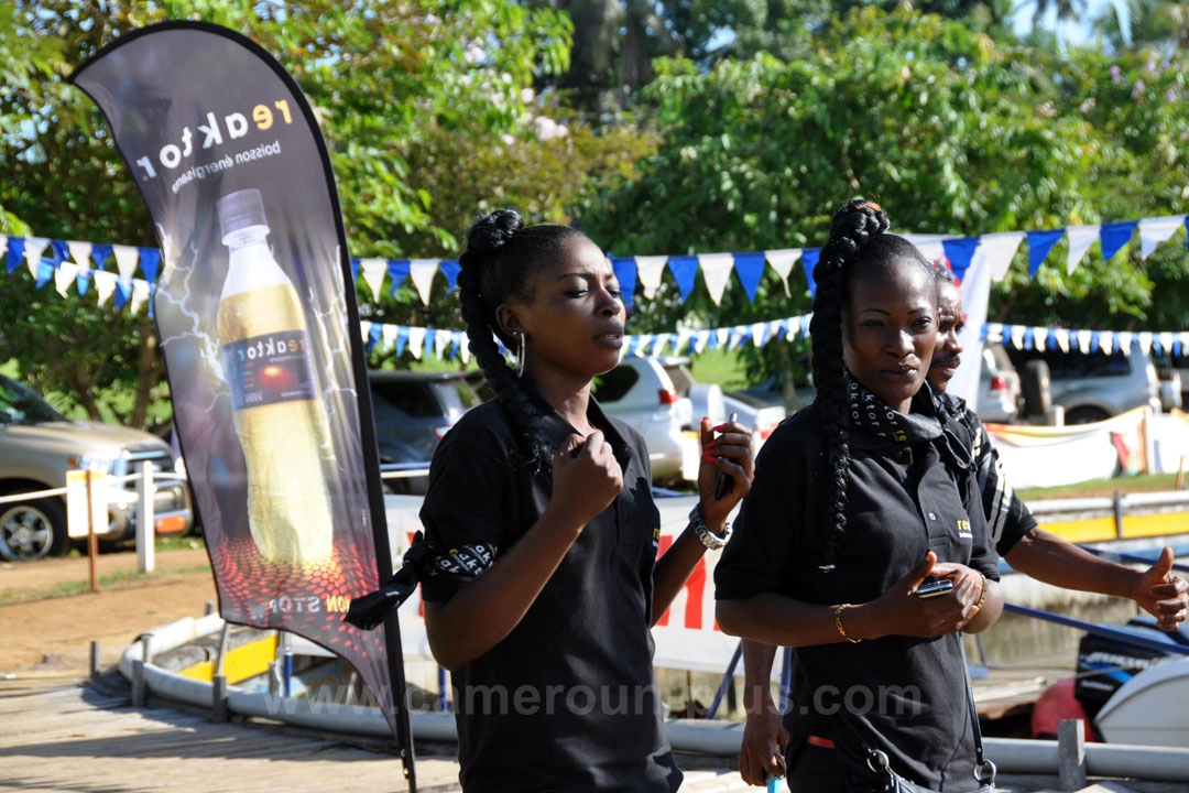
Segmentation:
{"type": "MultiPolygon", "coordinates": [[[[169,445],[155,435],[94,421],[70,421],[33,390],[0,376],[0,496],[55,490],[67,472],[92,470],[125,477],[151,461],[169,473],[169,445]]],[[[194,524],[184,479],[158,479],[153,497],[155,529],[187,531],[194,524]]],[[[136,537],[134,483],[109,491],[108,523],[96,527],[105,542],[136,537]]],[[[0,559],[24,561],[64,555],[71,548],[65,498],[46,496],[0,504],[0,559]]]]}

